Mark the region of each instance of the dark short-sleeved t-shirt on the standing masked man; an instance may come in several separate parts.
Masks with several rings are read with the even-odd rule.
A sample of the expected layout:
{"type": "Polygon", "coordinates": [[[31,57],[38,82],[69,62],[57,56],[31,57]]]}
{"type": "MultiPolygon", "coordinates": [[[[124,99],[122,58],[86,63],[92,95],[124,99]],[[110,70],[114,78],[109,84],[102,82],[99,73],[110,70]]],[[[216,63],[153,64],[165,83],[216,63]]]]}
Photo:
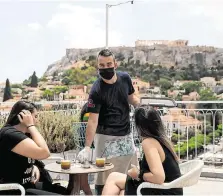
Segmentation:
{"type": "Polygon", "coordinates": [[[94,83],[88,99],[88,112],[99,113],[96,133],[111,136],[130,133],[128,95],[134,91],[131,78],[125,72],[117,72],[114,84],[107,84],[101,78],[94,83]]]}

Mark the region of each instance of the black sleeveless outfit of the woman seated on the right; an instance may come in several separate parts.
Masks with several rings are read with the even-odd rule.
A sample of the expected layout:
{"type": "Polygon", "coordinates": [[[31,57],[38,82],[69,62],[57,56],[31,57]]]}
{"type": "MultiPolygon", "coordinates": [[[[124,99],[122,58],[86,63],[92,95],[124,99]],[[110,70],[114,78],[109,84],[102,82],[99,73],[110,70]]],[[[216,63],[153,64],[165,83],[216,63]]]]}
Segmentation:
{"type": "MultiPolygon", "coordinates": [[[[161,144],[161,142],[160,142],[161,144]]],[[[181,176],[180,168],[178,162],[175,160],[173,154],[170,150],[161,144],[163,151],[165,153],[165,160],[163,161],[163,169],[165,172],[165,181],[171,182],[181,176]]],[[[143,155],[142,160],[140,161],[140,181],[132,180],[129,176],[127,177],[126,186],[125,186],[125,195],[136,195],[137,187],[144,182],[143,174],[150,172],[149,165],[146,161],[145,155],[143,155]]],[[[142,195],[183,195],[182,188],[173,188],[173,189],[152,189],[145,188],[141,191],[142,195]]]]}

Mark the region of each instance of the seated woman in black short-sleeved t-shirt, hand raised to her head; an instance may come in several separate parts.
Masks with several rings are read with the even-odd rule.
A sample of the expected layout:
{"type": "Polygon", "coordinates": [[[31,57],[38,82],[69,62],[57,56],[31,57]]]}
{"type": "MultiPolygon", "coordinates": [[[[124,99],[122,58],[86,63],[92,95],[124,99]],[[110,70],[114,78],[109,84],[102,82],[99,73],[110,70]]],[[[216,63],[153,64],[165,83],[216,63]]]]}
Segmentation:
{"type": "MultiPolygon", "coordinates": [[[[18,101],[12,107],[5,126],[0,130],[0,183],[19,183],[29,195],[55,195],[37,190],[40,172],[34,165],[35,160],[50,156],[48,146],[35,126],[37,118],[37,108],[33,103],[18,101]]],[[[0,194],[19,192],[0,191],[0,194]]]]}

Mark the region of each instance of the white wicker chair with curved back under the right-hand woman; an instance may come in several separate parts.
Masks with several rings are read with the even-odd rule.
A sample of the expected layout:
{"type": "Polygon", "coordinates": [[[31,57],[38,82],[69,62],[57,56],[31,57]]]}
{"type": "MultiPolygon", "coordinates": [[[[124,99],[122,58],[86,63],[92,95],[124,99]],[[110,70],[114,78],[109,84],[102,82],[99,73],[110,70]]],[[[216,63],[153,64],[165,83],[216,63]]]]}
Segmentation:
{"type": "Polygon", "coordinates": [[[156,189],[171,189],[171,188],[183,188],[195,185],[201,175],[202,167],[204,166],[201,160],[191,160],[179,165],[182,176],[176,180],[164,183],[164,184],[153,184],[149,182],[143,182],[137,188],[137,195],[140,196],[142,188],[156,188],[156,189]]]}

